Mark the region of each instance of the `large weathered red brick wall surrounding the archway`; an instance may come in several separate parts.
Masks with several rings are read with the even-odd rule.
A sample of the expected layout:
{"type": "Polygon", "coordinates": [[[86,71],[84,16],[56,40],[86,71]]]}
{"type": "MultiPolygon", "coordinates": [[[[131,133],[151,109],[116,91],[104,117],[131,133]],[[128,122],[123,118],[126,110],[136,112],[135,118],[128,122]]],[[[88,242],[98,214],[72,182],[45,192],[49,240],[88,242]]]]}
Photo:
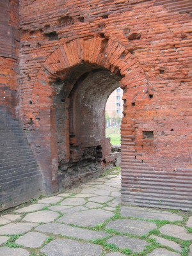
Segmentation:
{"type": "MultiPolygon", "coordinates": [[[[70,162],[70,92],[83,74],[105,68],[124,88],[124,203],[191,207],[191,15],[167,4],[20,1],[21,116],[50,188],[57,188],[58,158],[70,162]]],[[[101,99],[101,85],[93,86],[101,99]]]]}

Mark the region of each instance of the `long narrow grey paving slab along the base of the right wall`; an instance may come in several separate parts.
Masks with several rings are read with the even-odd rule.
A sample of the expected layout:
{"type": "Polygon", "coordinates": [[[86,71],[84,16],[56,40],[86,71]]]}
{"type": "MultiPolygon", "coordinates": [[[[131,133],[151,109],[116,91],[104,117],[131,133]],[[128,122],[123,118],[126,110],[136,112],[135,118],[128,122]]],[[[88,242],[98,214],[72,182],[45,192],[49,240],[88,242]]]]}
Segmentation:
{"type": "Polygon", "coordinates": [[[143,207],[121,207],[121,215],[124,217],[142,218],[146,220],[168,220],[168,221],[180,221],[182,216],[179,216],[172,212],[160,212],[156,210],[145,209],[143,207]]]}

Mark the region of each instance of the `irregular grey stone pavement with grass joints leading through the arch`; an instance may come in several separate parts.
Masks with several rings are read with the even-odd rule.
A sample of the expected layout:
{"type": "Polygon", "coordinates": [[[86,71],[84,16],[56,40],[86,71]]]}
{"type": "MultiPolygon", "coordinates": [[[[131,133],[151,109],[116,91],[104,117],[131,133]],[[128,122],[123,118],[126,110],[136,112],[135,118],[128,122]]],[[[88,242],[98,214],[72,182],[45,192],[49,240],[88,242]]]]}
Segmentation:
{"type": "Polygon", "coordinates": [[[0,217],[0,256],[192,256],[192,214],[121,205],[116,170],[0,217]]]}

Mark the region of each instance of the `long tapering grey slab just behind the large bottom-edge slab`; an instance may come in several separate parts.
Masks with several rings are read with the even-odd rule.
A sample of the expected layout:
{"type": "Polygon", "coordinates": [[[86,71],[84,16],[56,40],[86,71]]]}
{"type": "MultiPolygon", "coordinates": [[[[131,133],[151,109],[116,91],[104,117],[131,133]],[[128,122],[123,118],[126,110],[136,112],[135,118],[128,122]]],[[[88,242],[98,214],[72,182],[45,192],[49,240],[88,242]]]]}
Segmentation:
{"type": "Polygon", "coordinates": [[[43,224],[36,227],[35,230],[53,234],[60,234],[61,236],[73,236],[84,240],[102,239],[108,236],[108,234],[103,231],[94,231],[85,228],[71,227],[60,223],[43,224]]]}

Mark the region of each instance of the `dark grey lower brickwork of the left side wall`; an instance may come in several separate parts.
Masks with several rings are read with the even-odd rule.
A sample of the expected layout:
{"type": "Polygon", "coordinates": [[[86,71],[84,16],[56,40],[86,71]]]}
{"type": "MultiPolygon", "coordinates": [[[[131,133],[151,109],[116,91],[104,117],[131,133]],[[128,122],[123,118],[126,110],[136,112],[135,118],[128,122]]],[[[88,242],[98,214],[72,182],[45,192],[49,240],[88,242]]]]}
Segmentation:
{"type": "Polygon", "coordinates": [[[42,173],[17,118],[0,107],[0,211],[36,197],[42,173]]]}

